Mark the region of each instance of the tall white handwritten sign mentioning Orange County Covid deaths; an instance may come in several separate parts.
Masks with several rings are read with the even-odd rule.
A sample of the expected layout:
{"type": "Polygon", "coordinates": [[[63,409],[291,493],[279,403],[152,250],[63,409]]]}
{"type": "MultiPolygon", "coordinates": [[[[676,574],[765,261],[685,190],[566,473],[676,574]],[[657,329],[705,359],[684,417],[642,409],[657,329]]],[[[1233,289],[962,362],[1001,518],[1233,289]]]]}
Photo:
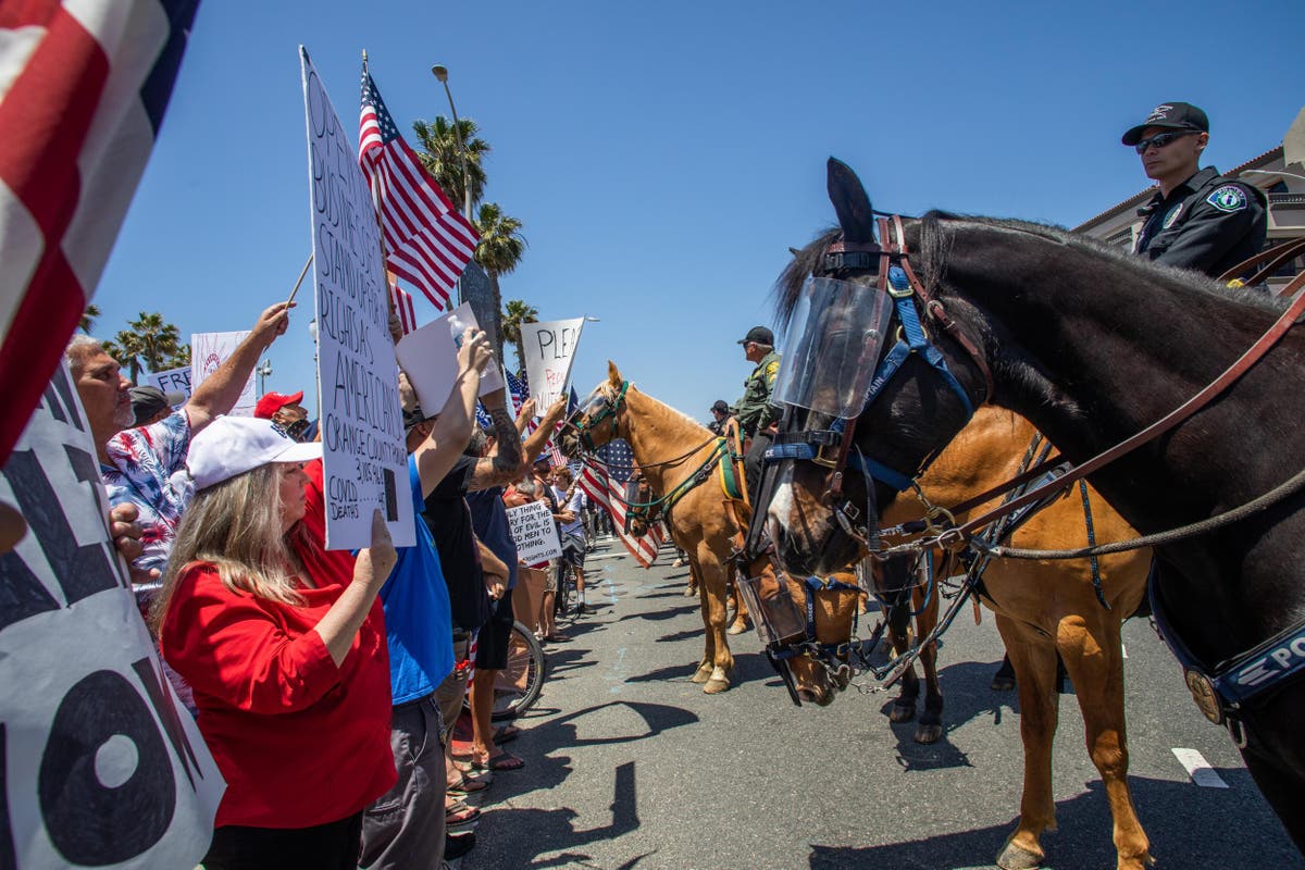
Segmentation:
{"type": "Polygon", "coordinates": [[[416,543],[398,367],[372,193],[345,128],[300,46],[317,305],[326,548],[372,543],[380,509],[395,547],[416,543]]]}

